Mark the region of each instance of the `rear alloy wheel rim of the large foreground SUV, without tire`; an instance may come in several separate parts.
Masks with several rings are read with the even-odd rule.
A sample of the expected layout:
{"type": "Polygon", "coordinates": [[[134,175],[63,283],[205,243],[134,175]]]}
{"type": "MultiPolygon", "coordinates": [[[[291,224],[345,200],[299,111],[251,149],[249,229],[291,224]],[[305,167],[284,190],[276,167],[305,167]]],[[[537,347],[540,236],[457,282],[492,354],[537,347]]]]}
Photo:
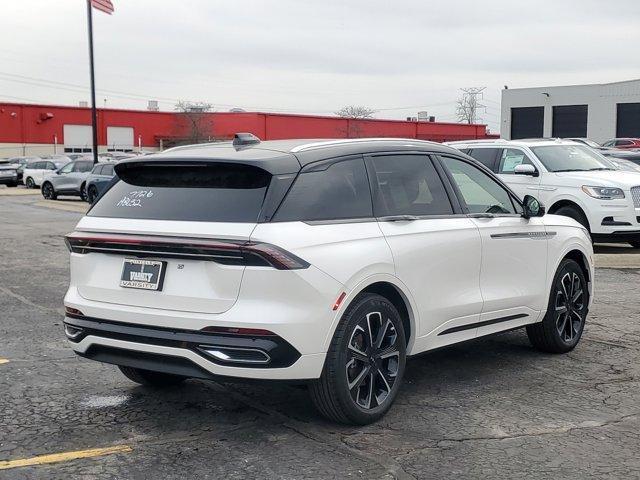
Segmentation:
{"type": "Polygon", "coordinates": [[[393,322],[370,312],[354,327],[345,364],[351,399],[365,410],[385,403],[398,376],[400,349],[393,322]]]}

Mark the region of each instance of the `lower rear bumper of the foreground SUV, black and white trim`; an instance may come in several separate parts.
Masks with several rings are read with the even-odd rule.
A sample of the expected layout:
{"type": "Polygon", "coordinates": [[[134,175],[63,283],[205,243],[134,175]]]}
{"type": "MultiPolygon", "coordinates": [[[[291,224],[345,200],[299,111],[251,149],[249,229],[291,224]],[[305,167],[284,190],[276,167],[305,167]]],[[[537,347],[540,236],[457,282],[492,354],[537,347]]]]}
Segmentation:
{"type": "Polygon", "coordinates": [[[300,355],[277,335],[212,334],[70,316],[64,325],[82,357],[195,378],[314,379],[325,358],[300,355]]]}

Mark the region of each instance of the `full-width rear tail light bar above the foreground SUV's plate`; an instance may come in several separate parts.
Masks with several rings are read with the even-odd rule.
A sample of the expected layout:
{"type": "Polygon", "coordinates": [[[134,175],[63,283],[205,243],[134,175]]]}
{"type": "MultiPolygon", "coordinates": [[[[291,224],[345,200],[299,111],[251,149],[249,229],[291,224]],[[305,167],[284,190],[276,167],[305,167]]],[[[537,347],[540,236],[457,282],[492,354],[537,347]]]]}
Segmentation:
{"type": "Polygon", "coordinates": [[[93,232],[65,236],[73,253],[111,253],[139,257],[209,260],[223,265],[273,267],[278,270],[308,268],[309,263],[269,243],[202,238],[161,237],[93,232]]]}

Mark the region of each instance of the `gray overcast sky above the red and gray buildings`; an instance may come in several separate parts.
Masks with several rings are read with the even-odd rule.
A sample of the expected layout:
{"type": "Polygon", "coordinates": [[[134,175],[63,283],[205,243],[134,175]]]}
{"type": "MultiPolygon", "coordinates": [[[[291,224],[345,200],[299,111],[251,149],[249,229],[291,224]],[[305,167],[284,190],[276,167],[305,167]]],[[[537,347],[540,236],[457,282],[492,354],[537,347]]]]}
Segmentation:
{"type": "MultiPolygon", "coordinates": [[[[94,11],[98,105],[160,100],[455,120],[460,87],[640,77],[638,0],[112,0],[94,11]],[[410,108],[407,108],[410,107],[410,108]]],[[[1,0],[0,100],[88,100],[84,0],[1,0]]]]}

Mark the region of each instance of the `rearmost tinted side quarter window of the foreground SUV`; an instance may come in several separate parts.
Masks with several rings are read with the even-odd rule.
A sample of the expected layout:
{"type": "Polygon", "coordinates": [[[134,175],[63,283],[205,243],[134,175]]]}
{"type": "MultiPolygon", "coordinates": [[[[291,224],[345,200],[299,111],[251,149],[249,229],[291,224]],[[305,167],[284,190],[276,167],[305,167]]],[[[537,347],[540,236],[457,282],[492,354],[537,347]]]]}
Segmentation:
{"type": "Polygon", "coordinates": [[[301,173],[274,216],[276,222],[373,216],[371,192],[360,158],[301,173]]]}

